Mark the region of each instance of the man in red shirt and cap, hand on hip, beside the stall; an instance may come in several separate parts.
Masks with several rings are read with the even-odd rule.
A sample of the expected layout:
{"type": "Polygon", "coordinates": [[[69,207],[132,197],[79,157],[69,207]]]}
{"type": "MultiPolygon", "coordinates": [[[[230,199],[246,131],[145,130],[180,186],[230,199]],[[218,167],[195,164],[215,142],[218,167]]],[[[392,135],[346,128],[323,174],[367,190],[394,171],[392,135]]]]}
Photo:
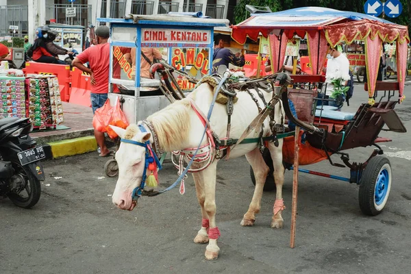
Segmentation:
{"type": "MultiPolygon", "coordinates": [[[[97,44],[94,47],[89,47],[73,60],[73,66],[90,74],[91,81],[91,108],[95,113],[97,108],[101,108],[107,100],[108,94],[108,78],[110,66],[110,29],[107,26],[97,27],[95,34],[97,36],[97,44]],[[88,62],[90,69],[84,64],[88,62]]],[[[100,156],[110,155],[110,151],[105,146],[104,133],[95,129],[95,138],[101,151],[100,156]]]]}

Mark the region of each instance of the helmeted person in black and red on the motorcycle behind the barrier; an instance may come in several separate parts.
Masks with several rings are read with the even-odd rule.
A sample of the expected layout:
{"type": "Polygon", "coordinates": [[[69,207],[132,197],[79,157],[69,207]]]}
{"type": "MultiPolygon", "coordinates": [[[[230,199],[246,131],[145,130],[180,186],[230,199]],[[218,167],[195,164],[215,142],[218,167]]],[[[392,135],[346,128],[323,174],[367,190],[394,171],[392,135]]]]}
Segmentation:
{"type": "Polygon", "coordinates": [[[45,26],[45,27],[39,27],[36,30],[37,34],[37,39],[34,40],[32,50],[33,50],[33,56],[32,59],[35,62],[40,62],[40,63],[49,63],[49,64],[60,64],[58,57],[55,58],[49,51],[47,51],[47,45],[46,41],[49,36],[48,32],[50,31],[50,28],[45,26]]]}

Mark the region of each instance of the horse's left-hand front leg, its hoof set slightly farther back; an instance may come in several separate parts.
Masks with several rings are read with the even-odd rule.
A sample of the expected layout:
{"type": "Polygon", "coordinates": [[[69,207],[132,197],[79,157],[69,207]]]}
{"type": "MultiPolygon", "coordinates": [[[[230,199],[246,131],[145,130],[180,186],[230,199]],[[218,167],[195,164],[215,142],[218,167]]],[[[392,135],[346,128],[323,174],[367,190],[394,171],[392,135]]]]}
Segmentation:
{"type": "Polygon", "coordinates": [[[204,192],[204,177],[203,173],[192,173],[192,177],[195,182],[195,189],[197,192],[197,199],[201,207],[201,229],[197,233],[197,236],[194,238],[196,244],[205,244],[208,242],[208,229],[210,227],[210,222],[208,221],[208,215],[204,209],[204,201],[206,200],[206,194],[204,192]]]}

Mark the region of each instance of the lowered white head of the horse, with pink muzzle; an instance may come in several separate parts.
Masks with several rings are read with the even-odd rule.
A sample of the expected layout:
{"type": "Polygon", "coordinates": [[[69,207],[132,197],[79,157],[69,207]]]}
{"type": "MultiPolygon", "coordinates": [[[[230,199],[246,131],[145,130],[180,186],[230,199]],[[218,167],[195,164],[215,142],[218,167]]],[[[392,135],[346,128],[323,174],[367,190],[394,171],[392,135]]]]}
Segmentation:
{"type": "Polygon", "coordinates": [[[111,126],[120,138],[131,140],[132,142],[121,142],[119,150],[116,152],[116,161],[119,166],[119,179],[116,183],[112,201],[122,210],[133,210],[137,201],[132,200],[132,193],[140,186],[142,175],[145,171],[146,148],[137,143],[144,144],[151,134],[140,132],[136,125],[129,125],[127,129],[111,126]]]}

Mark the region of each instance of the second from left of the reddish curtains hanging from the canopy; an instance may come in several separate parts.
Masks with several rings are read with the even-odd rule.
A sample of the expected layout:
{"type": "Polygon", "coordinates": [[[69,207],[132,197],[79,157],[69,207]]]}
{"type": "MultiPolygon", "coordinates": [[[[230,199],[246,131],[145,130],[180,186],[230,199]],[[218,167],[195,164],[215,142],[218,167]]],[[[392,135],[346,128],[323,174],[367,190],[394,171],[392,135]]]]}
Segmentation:
{"type": "Polygon", "coordinates": [[[322,30],[310,31],[307,32],[307,36],[308,55],[310,55],[312,74],[321,74],[322,64],[324,64],[329,48],[327,45],[327,39],[325,39],[325,33],[322,30]]]}

